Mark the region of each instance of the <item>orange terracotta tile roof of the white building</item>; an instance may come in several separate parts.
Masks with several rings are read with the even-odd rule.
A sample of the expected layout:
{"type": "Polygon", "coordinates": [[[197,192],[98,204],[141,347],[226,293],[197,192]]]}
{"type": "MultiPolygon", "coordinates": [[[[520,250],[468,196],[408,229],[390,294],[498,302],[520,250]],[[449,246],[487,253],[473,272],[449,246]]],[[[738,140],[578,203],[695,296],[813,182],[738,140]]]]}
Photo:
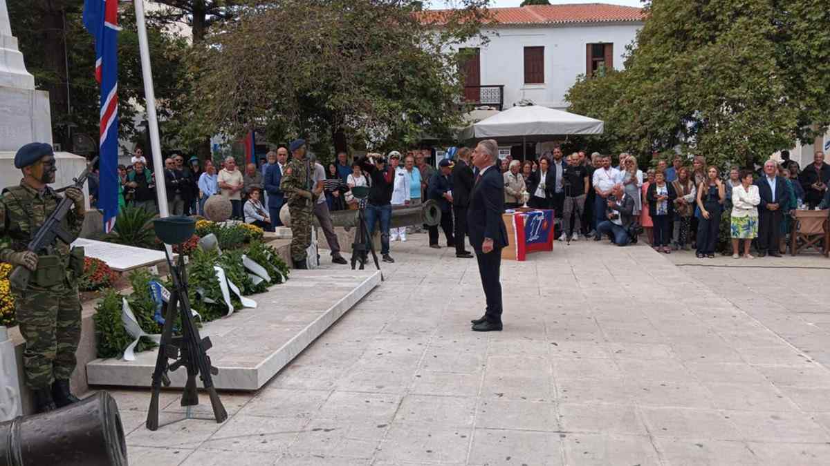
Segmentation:
{"type": "MultiPolygon", "coordinates": [[[[608,3],[572,3],[490,8],[493,22],[505,25],[566,24],[580,22],[639,22],[645,19],[642,8],[608,3]]],[[[447,10],[422,13],[426,22],[441,22],[447,10]]]]}

